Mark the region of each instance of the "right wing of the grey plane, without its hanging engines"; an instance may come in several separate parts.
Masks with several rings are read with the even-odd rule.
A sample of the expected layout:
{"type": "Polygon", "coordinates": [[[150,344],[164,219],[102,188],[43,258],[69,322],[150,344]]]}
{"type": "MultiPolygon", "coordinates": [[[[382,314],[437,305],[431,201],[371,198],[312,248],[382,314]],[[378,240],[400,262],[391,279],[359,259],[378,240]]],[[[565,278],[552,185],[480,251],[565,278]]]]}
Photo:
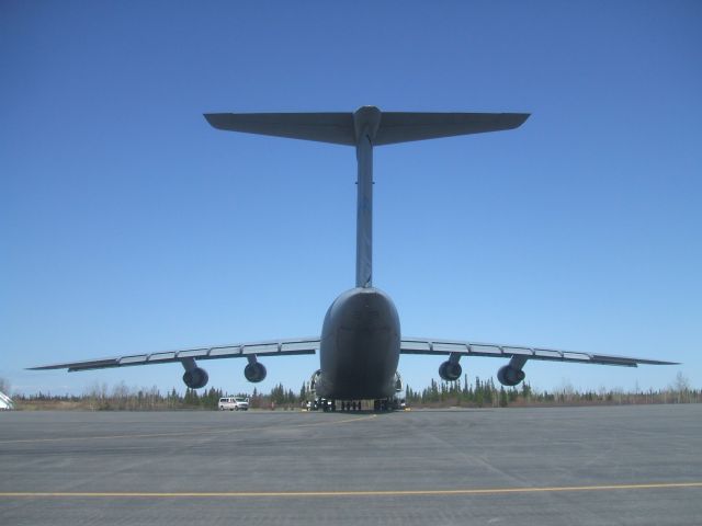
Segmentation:
{"type": "Polygon", "coordinates": [[[530,347],[525,345],[505,345],[499,343],[477,343],[457,340],[437,340],[430,338],[404,338],[400,342],[401,354],[450,355],[452,353],[464,356],[491,356],[523,359],[545,359],[551,362],[578,362],[580,364],[620,365],[636,367],[646,365],[677,365],[677,362],[661,362],[658,359],[633,358],[611,354],[578,353],[557,351],[555,348],[530,347]]]}

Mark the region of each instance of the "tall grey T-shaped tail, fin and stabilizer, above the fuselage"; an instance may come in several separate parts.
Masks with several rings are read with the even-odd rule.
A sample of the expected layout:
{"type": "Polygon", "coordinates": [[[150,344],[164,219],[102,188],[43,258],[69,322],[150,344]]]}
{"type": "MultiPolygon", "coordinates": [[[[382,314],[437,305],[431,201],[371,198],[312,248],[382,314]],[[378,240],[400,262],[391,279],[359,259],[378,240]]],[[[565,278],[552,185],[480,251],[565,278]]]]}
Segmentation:
{"type": "Polygon", "coordinates": [[[355,286],[361,288],[373,284],[373,147],[512,129],[528,117],[528,113],[381,112],[375,106],[362,106],[353,113],[205,114],[218,129],[355,147],[355,286]]]}

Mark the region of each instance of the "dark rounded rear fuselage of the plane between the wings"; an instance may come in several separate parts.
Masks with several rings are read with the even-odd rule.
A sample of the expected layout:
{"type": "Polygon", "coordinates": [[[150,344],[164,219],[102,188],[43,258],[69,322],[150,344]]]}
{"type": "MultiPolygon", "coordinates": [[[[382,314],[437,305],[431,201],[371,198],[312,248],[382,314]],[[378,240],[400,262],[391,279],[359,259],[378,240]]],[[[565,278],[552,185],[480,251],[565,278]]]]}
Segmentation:
{"type": "Polygon", "coordinates": [[[399,317],[377,288],[352,288],[327,310],[317,393],[331,400],[385,399],[395,393],[399,317]]]}

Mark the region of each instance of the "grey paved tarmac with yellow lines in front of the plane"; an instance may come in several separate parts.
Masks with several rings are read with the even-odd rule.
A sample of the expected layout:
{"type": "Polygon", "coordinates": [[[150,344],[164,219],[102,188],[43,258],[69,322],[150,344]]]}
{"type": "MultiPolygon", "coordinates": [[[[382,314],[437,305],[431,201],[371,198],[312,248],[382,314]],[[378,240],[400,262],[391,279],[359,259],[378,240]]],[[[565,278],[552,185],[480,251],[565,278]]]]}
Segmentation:
{"type": "Polygon", "coordinates": [[[699,525],[702,404],[0,413],[0,524],[699,525]]]}

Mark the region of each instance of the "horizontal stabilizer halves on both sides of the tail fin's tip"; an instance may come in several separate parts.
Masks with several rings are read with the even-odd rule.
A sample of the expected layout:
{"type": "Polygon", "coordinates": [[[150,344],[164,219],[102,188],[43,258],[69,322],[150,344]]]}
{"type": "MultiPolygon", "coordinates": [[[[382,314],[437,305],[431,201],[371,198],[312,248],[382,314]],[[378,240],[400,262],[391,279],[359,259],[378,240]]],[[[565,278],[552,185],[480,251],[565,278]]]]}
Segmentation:
{"type": "MultiPolygon", "coordinates": [[[[218,129],[355,146],[353,113],[208,113],[218,129]]],[[[519,127],[528,113],[380,112],[373,146],[519,127]]]]}

